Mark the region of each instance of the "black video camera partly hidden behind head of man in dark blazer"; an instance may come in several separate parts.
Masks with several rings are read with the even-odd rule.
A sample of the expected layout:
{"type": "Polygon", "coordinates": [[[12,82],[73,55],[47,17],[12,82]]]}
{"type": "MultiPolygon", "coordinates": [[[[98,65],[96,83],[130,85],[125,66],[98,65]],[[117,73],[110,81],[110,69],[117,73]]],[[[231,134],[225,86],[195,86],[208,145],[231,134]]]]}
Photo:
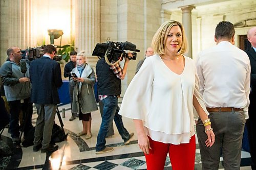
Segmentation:
{"type": "MultiPolygon", "coordinates": [[[[45,45],[39,47],[29,47],[26,50],[22,50],[22,58],[32,61],[34,59],[41,58],[44,56],[44,47],[45,45]]],[[[55,54],[53,60],[60,61],[62,59],[61,55],[55,54]]]]}

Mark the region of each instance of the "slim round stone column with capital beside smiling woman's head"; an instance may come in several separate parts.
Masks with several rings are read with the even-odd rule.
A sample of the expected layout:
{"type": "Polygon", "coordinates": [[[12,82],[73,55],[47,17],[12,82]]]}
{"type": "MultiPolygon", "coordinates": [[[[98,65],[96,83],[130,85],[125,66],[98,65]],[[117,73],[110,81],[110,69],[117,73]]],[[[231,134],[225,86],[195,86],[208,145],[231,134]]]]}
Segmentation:
{"type": "Polygon", "coordinates": [[[179,7],[182,10],[182,25],[186,32],[186,37],[188,41],[188,57],[192,58],[192,22],[191,22],[191,11],[195,8],[194,6],[183,6],[179,7]]]}

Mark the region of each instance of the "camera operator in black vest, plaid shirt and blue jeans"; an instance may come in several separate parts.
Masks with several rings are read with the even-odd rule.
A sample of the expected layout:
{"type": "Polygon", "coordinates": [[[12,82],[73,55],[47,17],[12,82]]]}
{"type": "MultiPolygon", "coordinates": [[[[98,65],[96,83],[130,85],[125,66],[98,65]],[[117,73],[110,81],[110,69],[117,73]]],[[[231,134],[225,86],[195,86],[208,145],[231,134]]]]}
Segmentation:
{"type": "MultiPolygon", "coordinates": [[[[128,54],[133,57],[132,53],[128,54]]],[[[124,140],[124,144],[129,144],[134,133],[129,132],[124,128],[122,116],[118,114],[119,106],[117,103],[118,97],[121,94],[121,80],[124,79],[129,63],[129,58],[125,57],[123,69],[119,62],[115,65],[109,65],[104,58],[98,60],[96,64],[96,75],[98,78],[98,94],[99,100],[103,103],[102,122],[96,143],[96,154],[102,154],[113,151],[112,147],[106,147],[105,137],[108,134],[109,128],[113,119],[119,134],[124,140]]]]}

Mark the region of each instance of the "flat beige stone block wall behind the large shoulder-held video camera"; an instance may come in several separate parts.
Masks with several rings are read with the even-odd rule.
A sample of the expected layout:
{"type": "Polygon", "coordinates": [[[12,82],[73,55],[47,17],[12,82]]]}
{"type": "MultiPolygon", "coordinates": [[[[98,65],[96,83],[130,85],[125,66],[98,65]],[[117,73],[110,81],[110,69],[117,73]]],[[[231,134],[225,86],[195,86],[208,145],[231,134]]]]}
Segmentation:
{"type": "MultiPolygon", "coordinates": [[[[140,53],[132,60],[122,80],[123,92],[135,75],[138,61],[144,57],[147,46],[161,24],[161,2],[158,0],[102,0],[101,1],[101,42],[108,37],[110,41],[130,41],[140,53]]],[[[124,61],[121,62],[123,66],[124,61]]]]}

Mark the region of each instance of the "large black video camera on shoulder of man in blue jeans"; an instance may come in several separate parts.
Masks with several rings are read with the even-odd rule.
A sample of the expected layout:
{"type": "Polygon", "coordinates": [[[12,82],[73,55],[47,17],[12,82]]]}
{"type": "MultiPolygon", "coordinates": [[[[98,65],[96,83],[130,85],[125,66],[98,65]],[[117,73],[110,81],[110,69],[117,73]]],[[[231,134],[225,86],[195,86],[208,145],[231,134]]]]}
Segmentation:
{"type": "Polygon", "coordinates": [[[135,52],[140,52],[140,50],[137,50],[136,45],[131,42],[113,42],[107,40],[105,43],[97,43],[92,55],[98,56],[98,58],[105,58],[109,65],[114,65],[122,61],[123,57],[129,60],[136,60],[137,53],[135,52]],[[127,50],[133,51],[132,57],[128,56],[127,50]]]}

